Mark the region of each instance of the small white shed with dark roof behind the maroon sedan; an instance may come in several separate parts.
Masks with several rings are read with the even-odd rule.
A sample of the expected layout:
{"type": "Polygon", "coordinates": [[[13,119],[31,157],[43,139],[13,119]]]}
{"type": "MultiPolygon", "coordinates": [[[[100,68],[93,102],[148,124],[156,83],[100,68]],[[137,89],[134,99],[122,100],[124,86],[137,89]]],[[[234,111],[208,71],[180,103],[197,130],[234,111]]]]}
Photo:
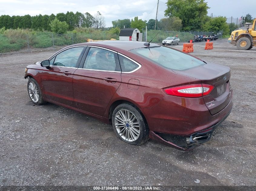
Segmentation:
{"type": "Polygon", "coordinates": [[[119,40],[142,41],[142,33],[137,28],[124,28],[120,30],[119,40]]]}

